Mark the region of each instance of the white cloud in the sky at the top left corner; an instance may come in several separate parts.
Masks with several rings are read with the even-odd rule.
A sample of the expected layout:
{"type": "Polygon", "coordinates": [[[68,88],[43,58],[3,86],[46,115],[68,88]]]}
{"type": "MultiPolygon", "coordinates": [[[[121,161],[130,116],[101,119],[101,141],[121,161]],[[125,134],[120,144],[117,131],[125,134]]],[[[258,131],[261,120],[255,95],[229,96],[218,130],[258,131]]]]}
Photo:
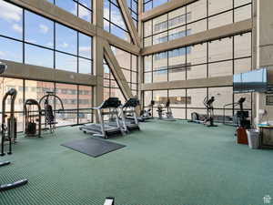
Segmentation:
{"type": "Polygon", "coordinates": [[[19,22],[22,18],[22,9],[0,0],[0,18],[8,22],[19,22]]]}

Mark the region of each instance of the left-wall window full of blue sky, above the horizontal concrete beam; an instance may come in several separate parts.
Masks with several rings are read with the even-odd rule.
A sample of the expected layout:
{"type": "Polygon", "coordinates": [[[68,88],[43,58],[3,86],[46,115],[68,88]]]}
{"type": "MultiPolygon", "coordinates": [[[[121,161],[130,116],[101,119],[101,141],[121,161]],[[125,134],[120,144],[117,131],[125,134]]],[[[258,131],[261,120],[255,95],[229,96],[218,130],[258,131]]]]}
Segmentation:
{"type": "MultiPolygon", "coordinates": [[[[79,4],[90,7],[91,1],[81,0],[79,4]]],[[[0,1],[0,9],[1,59],[93,74],[91,36],[5,1],[0,1]]]]}

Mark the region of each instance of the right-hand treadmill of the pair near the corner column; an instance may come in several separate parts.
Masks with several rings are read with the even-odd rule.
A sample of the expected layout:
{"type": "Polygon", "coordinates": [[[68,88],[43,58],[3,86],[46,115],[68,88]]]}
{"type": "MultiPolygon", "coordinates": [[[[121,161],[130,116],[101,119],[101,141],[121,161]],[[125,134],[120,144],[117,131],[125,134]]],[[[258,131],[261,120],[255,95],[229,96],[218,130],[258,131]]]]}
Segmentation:
{"type": "MultiPolygon", "coordinates": [[[[124,132],[140,130],[136,117],[136,107],[139,100],[135,97],[129,98],[124,105],[119,107],[119,124],[122,125],[124,132]],[[128,117],[129,116],[129,117],[128,117]]],[[[110,126],[116,126],[116,118],[109,119],[110,126]]]]}

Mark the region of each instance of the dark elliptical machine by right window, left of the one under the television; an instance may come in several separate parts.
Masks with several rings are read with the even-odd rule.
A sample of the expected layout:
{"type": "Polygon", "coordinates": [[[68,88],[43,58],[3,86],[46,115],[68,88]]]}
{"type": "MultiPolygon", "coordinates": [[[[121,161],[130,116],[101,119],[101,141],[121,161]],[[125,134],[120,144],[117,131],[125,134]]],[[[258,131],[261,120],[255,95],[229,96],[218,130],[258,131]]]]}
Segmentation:
{"type": "Polygon", "coordinates": [[[191,120],[188,120],[188,122],[203,124],[203,125],[206,125],[207,127],[217,127],[217,125],[214,124],[214,108],[213,108],[214,101],[215,101],[215,97],[210,97],[209,99],[205,97],[203,100],[203,104],[207,108],[207,115],[201,116],[197,112],[193,112],[191,113],[191,120]]]}

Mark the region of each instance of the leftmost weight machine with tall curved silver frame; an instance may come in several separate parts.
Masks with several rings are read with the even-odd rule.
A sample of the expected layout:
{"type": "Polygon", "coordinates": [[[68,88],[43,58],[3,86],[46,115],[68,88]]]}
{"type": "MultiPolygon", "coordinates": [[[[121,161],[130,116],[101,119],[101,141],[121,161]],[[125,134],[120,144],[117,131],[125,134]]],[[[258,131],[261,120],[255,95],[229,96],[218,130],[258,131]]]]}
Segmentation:
{"type": "Polygon", "coordinates": [[[4,156],[4,143],[5,140],[9,141],[9,150],[7,152],[8,155],[12,154],[12,142],[16,140],[17,138],[17,124],[16,124],[16,118],[15,118],[15,98],[17,96],[17,91],[15,88],[9,89],[5,96],[3,97],[2,101],[2,126],[1,126],[1,154],[0,156],[4,156]],[[5,104],[7,97],[10,97],[10,111],[9,111],[9,118],[7,118],[7,114],[5,111],[5,104]],[[5,118],[7,118],[7,121],[5,121],[5,118]]]}

